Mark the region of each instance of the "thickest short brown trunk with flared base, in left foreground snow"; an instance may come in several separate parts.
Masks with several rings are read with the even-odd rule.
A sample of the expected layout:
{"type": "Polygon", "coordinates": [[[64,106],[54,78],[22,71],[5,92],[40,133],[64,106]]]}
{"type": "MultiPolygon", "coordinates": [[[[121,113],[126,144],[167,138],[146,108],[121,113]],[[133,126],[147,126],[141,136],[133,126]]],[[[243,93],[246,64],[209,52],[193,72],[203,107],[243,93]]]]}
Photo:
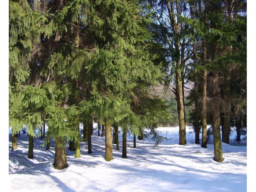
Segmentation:
{"type": "Polygon", "coordinates": [[[55,157],[54,157],[54,169],[64,169],[68,167],[65,139],[55,138],[55,157]]]}

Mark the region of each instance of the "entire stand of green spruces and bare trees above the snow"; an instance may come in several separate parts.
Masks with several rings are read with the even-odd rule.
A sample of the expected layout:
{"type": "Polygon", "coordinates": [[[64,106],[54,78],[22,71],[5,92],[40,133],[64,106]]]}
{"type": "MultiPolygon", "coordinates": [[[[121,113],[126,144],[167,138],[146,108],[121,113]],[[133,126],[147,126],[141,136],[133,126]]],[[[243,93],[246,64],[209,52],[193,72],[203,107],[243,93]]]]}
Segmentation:
{"type": "Polygon", "coordinates": [[[92,153],[93,132],[106,161],[120,132],[127,158],[127,134],[158,145],[178,126],[182,146],[190,126],[216,162],[232,129],[247,134],[246,0],[9,0],[8,40],[11,150],[54,140],[54,169],[66,142],[92,153]]]}

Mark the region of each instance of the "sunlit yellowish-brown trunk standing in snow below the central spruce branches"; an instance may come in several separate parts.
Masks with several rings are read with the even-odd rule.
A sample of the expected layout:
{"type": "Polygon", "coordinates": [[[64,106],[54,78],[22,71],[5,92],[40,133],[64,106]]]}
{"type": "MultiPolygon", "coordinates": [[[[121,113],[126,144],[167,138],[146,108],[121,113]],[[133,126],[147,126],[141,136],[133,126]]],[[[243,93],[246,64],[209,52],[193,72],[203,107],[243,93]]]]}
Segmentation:
{"type": "Polygon", "coordinates": [[[108,119],[105,119],[106,136],[105,136],[105,160],[111,161],[113,159],[112,139],[111,139],[111,124],[108,119]]]}

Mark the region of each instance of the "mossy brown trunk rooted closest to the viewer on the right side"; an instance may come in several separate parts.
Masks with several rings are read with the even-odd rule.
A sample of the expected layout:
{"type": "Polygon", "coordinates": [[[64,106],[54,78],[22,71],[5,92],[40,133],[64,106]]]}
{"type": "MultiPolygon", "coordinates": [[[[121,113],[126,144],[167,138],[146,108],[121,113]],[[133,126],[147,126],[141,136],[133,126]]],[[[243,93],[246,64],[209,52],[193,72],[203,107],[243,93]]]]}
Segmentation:
{"type": "Polygon", "coordinates": [[[220,137],[220,104],[219,104],[219,82],[218,73],[212,74],[212,128],[214,142],[214,161],[222,162],[222,144],[220,137]]]}

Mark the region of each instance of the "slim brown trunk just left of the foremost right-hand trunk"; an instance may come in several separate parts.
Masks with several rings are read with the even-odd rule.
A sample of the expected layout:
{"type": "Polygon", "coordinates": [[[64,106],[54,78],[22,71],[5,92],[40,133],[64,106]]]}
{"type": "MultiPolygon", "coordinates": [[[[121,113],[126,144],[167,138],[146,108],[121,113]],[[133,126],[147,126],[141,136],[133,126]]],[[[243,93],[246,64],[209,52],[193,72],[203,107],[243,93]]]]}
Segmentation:
{"type": "Polygon", "coordinates": [[[206,40],[202,40],[202,65],[203,82],[202,82],[202,148],[207,148],[207,121],[206,121],[206,96],[207,96],[207,71],[206,71],[206,40]]]}

